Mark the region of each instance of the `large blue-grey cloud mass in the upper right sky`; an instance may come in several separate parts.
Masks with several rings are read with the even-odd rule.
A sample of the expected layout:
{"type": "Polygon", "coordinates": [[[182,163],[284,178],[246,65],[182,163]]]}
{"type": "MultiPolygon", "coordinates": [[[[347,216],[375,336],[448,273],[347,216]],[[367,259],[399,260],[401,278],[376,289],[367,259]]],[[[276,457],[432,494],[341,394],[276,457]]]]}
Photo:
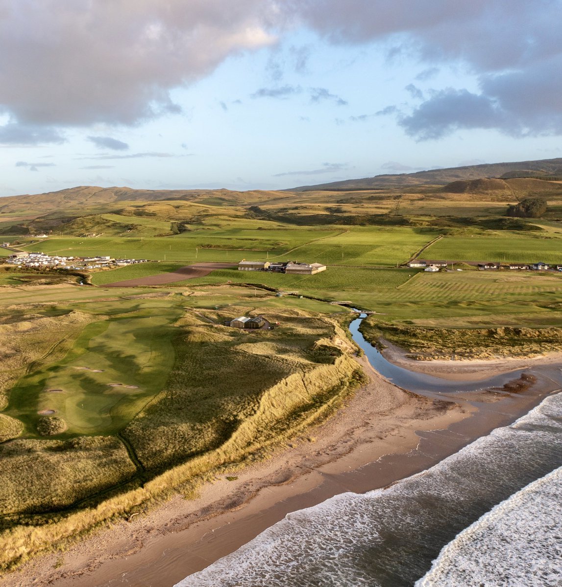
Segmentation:
{"type": "MultiPolygon", "coordinates": [[[[287,1],[332,43],[379,42],[389,58],[426,64],[418,81],[436,76],[443,65],[471,72],[477,92],[437,87],[402,117],[416,139],[439,139],[457,129],[562,134],[562,78],[555,73],[562,70],[559,0],[287,1]]],[[[423,98],[415,86],[407,90],[423,98]]]]}

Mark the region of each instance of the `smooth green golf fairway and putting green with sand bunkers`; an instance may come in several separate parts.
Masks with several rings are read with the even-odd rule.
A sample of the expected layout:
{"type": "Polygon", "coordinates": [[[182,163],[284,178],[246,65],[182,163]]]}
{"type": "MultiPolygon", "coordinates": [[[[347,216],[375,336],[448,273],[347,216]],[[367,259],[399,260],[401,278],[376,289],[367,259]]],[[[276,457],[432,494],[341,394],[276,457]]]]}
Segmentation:
{"type": "Polygon", "coordinates": [[[23,421],[28,434],[41,412],[63,418],[68,433],[112,433],[162,390],[181,308],[155,300],[119,306],[118,315],[86,326],[64,359],[16,384],[6,414],[23,421]]]}

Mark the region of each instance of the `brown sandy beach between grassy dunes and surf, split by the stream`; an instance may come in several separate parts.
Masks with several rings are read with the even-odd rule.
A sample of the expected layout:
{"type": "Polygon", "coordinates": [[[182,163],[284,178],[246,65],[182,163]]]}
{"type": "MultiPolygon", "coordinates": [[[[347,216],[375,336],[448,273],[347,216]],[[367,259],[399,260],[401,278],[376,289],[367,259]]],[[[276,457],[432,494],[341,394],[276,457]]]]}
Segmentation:
{"type": "MultiPolygon", "coordinates": [[[[560,362],[560,357],[552,362],[550,358],[547,364],[560,362]]],[[[385,487],[422,471],[474,438],[510,423],[556,389],[554,383],[541,381],[517,394],[491,390],[431,399],[394,386],[364,357],[357,360],[369,383],[334,417],[277,450],[269,460],[221,475],[205,485],[195,500],[176,495],[61,554],[37,558],[6,575],[3,584],[171,587],[288,512],[345,491],[385,487]]],[[[433,375],[451,379],[484,379],[529,364],[502,360],[497,365],[466,361],[427,365],[399,356],[392,360],[410,369],[431,367],[433,375]]]]}

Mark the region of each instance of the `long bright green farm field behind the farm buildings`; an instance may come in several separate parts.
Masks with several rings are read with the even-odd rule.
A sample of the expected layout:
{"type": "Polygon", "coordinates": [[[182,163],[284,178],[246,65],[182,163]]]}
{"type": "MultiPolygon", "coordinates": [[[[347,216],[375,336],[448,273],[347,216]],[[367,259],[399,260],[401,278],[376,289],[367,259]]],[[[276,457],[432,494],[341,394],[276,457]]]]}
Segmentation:
{"type": "Polygon", "coordinates": [[[290,258],[311,263],[395,266],[406,262],[437,234],[403,227],[199,228],[172,237],[53,237],[23,248],[67,256],[105,254],[186,263],[290,258]]]}

